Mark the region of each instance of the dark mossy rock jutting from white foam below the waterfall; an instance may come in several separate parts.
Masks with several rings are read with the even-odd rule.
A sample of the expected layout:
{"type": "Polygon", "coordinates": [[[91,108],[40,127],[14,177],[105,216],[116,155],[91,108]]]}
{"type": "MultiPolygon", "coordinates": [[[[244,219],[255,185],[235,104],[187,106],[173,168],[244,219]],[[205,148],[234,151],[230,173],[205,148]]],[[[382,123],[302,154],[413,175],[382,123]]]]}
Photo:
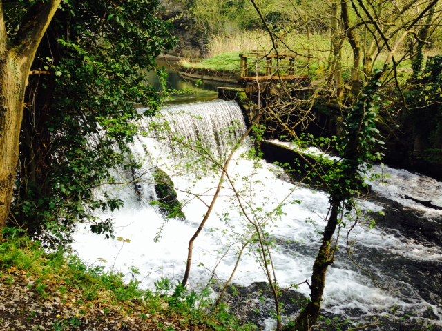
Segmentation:
{"type": "Polygon", "coordinates": [[[181,210],[182,206],[177,199],[177,192],[175,192],[171,177],[160,168],[155,167],[155,170],[153,170],[153,179],[155,180],[157,203],[161,212],[168,219],[185,219],[186,216],[181,210]]]}

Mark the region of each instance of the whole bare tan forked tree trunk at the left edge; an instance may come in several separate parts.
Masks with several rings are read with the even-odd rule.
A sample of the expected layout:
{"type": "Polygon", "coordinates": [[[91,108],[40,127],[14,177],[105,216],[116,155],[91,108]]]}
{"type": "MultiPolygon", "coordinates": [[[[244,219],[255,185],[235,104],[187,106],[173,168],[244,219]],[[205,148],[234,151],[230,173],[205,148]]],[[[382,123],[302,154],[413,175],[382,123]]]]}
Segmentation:
{"type": "Polygon", "coordinates": [[[0,235],[12,202],[30,66],[60,2],[35,2],[23,16],[17,34],[10,36],[0,1],[0,235]]]}

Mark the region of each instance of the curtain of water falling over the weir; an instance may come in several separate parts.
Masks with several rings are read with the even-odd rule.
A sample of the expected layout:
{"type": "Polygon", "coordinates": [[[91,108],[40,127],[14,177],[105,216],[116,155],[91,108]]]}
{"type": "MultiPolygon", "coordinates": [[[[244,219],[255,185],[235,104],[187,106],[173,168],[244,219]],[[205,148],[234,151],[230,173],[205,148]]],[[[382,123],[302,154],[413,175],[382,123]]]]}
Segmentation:
{"type": "Polygon", "coordinates": [[[204,173],[213,163],[222,164],[246,131],[246,124],[238,103],[217,99],[166,106],[156,117],[142,119],[140,130],[142,133],[135,137],[130,148],[134,161],[142,166],[115,171],[117,182],[133,181],[133,185],[114,186],[110,194],[134,208],[155,201],[152,177],[155,166],[173,172],[170,163],[179,163],[204,173]]]}

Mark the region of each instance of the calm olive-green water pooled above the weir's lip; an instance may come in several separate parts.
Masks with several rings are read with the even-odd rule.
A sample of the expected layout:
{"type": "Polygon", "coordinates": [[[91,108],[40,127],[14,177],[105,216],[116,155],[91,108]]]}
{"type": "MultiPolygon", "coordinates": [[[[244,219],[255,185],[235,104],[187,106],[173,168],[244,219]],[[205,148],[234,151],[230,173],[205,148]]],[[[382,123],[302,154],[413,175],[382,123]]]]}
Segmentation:
{"type": "MultiPolygon", "coordinates": [[[[173,90],[186,91],[183,94],[175,94],[171,101],[167,103],[190,103],[195,101],[209,101],[218,97],[218,86],[226,86],[229,84],[214,82],[214,81],[200,81],[197,79],[190,79],[182,77],[179,72],[179,66],[175,61],[167,61],[164,59],[157,60],[158,68],[162,68],[168,74],[166,79],[167,88],[173,90]]],[[[160,80],[155,72],[147,72],[146,77],[150,83],[160,90],[160,80]]]]}

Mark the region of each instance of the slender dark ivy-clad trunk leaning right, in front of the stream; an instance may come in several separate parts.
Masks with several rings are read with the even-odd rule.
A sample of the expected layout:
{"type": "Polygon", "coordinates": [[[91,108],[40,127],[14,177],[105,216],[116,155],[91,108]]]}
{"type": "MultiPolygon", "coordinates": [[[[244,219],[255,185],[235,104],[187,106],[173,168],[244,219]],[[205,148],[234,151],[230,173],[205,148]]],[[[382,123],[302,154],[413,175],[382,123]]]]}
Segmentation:
{"type": "Polygon", "coordinates": [[[375,119],[378,97],[376,92],[384,71],[378,71],[361,91],[360,98],[346,118],[345,134],[340,150],[343,160],[336,162],[328,175],[330,212],[323,232],[323,240],[314,261],[311,274],[310,301],[300,312],[298,318],[287,325],[285,331],[309,331],[316,325],[323,299],[325,277],[329,265],[334,260],[334,233],[339,225],[341,212],[352,209],[352,197],[365,187],[363,183],[363,165],[379,159],[378,130],[375,119]]]}

